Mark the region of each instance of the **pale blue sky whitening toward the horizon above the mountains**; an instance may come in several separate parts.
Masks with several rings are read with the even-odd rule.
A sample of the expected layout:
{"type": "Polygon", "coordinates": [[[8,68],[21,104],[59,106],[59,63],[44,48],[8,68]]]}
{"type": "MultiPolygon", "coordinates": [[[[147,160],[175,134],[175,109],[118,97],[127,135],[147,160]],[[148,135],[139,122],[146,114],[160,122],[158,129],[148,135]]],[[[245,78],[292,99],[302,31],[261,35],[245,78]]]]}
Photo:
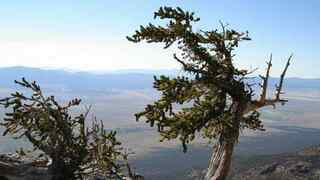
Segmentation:
{"type": "Polygon", "coordinates": [[[179,6],[201,20],[196,30],[219,21],[249,31],[252,41],[236,50],[240,68],[265,70],[273,54],[278,76],[293,53],[290,77],[320,78],[318,0],[0,0],[0,67],[28,66],[73,71],[176,69],[175,49],[131,43],[126,36],[153,19],[160,6],[179,6]]]}

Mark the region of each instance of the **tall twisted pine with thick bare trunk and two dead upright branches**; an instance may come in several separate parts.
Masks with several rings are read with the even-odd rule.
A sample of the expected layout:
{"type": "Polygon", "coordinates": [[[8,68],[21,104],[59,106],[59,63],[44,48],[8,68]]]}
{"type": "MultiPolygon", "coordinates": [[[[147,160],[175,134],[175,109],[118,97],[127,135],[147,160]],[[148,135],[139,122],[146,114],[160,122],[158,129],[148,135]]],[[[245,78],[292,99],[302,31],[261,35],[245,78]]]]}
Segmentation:
{"type": "Polygon", "coordinates": [[[248,33],[237,32],[223,24],[220,31],[195,32],[192,24],[200,19],[179,7],[161,7],[154,18],[168,20],[168,23],[140,26],[127,39],[135,43],[164,43],[164,48],[176,45],[181,54],[173,57],[186,75],[155,77],[154,88],[162,95],[137,113],[136,118],[145,117],[151,126],[156,125],[162,140],[180,139],[184,151],[197,133],[216,139],[205,179],[225,180],[240,130],[263,130],[257,110],[287,102],[280,95],[292,56],[272,99],[267,98],[270,59],[266,75],[261,76],[261,95],[255,99],[252,85],[246,81],[250,72],[233,64],[233,51],[240,41],[250,40],[248,33]],[[177,105],[183,104],[187,105],[177,110],[177,105]]]}

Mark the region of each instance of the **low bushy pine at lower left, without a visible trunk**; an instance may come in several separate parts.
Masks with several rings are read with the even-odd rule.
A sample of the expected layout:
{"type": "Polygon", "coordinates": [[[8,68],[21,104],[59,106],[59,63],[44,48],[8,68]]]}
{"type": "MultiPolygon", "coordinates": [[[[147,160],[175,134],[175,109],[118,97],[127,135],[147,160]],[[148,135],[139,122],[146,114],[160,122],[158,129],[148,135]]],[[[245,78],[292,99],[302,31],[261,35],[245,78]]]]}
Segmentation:
{"type": "Polygon", "coordinates": [[[124,168],[129,168],[129,164],[116,132],[107,132],[102,122],[96,120],[87,127],[85,120],[90,108],[84,114],[70,114],[80,99],[60,105],[54,96],[46,97],[36,82],[24,78],[15,82],[31,93],[16,92],[0,100],[1,105],[12,110],[0,123],[6,129],[3,135],[25,137],[34,150],[41,152],[40,156],[49,157],[52,180],[83,179],[87,175],[124,178],[124,168]]]}

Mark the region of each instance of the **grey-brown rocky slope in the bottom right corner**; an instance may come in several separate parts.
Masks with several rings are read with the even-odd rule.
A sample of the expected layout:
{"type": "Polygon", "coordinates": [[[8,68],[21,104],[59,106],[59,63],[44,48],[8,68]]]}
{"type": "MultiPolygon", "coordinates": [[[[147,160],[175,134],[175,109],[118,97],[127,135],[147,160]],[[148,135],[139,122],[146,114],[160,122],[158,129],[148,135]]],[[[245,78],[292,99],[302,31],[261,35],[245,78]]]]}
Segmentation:
{"type": "Polygon", "coordinates": [[[320,180],[320,146],[270,157],[271,163],[240,172],[234,180],[320,180]]]}

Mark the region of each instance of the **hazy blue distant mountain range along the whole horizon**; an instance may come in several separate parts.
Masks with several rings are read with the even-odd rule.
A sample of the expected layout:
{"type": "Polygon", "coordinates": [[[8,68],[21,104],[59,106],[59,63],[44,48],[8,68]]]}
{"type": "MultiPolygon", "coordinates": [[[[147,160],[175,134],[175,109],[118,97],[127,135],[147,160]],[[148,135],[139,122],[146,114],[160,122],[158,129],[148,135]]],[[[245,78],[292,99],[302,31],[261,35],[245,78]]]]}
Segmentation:
{"type": "MultiPolygon", "coordinates": [[[[152,88],[153,75],[175,75],[178,70],[120,70],[107,73],[69,72],[29,67],[0,68],[0,88],[16,87],[14,80],[22,77],[36,80],[44,87],[61,87],[70,90],[147,89],[152,88]]],[[[254,78],[258,83],[258,78],[254,78]]],[[[270,78],[274,86],[278,78],[270,78]]],[[[320,89],[320,79],[287,78],[285,88],[320,89]]]]}

